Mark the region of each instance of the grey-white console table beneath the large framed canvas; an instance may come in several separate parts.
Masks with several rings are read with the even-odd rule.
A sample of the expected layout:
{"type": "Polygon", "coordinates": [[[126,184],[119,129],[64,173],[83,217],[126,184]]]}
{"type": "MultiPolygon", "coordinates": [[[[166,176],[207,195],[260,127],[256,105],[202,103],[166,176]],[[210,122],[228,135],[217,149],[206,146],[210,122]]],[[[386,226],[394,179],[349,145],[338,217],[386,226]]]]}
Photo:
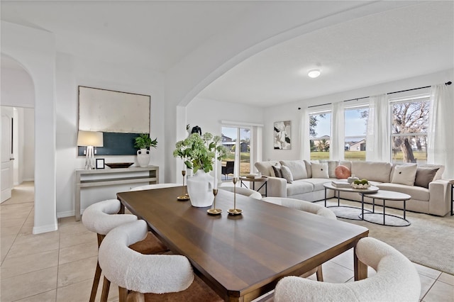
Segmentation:
{"type": "Polygon", "coordinates": [[[159,167],[148,166],[92,170],[76,169],[76,193],[74,198],[74,216],[76,216],[76,221],[80,220],[80,189],[116,184],[138,184],[140,182],[158,184],[159,167]],[[145,174],[143,172],[148,173],[145,174]],[[132,176],[131,174],[134,175],[132,176]]]}

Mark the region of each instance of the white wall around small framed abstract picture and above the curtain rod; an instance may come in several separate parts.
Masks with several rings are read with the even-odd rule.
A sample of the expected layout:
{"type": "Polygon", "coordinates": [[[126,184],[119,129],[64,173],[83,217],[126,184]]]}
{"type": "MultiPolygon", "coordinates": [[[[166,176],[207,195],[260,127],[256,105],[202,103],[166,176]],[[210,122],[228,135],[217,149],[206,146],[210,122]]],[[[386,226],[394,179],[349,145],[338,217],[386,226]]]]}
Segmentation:
{"type": "MultiPolygon", "coordinates": [[[[433,84],[441,84],[448,81],[453,82],[454,69],[448,69],[443,72],[433,74],[425,74],[419,77],[402,79],[399,81],[377,84],[374,86],[363,87],[350,91],[341,91],[337,94],[319,96],[314,99],[306,99],[295,101],[285,105],[271,106],[265,108],[264,111],[264,145],[263,145],[263,160],[298,160],[300,157],[301,134],[300,134],[300,115],[301,111],[307,106],[321,105],[334,103],[348,99],[361,98],[365,96],[374,96],[393,91],[401,91],[413,89],[421,86],[430,86],[433,84]],[[298,108],[301,107],[301,110],[298,108]],[[273,150],[273,123],[275,121],[292,121],[292,150],[273,150]]],[[[453,93],[454,85],[451,84],[448,88],[453,93]]],[[[418,91],[415,91],[417,94],[418,91]]],[[[454,121],[451,125],[446,125],[448,128],[454,128],[454,121]]],[[[452,139],[452,138],[447,138],[452,139]]],[[[309,142],[308,142],[309,143],[309,142]]]]}

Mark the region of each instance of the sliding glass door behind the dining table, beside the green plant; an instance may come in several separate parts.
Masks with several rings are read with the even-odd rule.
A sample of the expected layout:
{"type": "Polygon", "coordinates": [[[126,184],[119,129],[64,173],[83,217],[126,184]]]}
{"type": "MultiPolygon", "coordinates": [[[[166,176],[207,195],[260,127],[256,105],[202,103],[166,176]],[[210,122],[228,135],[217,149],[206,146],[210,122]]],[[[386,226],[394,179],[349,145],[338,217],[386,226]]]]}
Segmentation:
{"type": "Polygon", "coordinates": [[[227,149],[222,162],[223,181],[250,174],[250,128],[223,127],[222,144],[227,149]]]}

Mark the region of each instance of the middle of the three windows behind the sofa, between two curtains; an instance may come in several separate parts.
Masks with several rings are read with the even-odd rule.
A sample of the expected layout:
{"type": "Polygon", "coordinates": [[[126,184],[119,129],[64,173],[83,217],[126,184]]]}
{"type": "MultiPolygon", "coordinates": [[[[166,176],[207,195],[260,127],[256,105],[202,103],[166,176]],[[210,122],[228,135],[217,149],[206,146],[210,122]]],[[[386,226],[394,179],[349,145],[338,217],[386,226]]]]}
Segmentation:
{"type": "Polygon", "coordinates": [[[345,108],[345,160],[366,160],[367,106],[345,108]]]}

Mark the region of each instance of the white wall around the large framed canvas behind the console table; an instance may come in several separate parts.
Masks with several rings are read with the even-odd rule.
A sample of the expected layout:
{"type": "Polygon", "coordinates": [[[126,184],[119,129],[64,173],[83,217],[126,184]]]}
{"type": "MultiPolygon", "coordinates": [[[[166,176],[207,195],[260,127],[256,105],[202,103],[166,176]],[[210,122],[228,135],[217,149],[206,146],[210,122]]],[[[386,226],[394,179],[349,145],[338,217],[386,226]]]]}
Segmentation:
{"type": "MultiPolygon", "coordinates": [[[[57,53],[57,217],[74,215],[74,169],[84,167],[84,157],[77,156],[78,86],[89,86],[151,96],[150,136],[157,138],[151,150],[150,164],[160,166],[165,178],[164,162],[164,76],[140,67],[113,65],[84,60],[57,53]]],[[[135,162],[136,156],[102,156],[106,162],[135,162]]],[[[81,192],[81,208],[106,198],[116,198],[117,191],[129,186],[99,187],[81,192]]]]}

